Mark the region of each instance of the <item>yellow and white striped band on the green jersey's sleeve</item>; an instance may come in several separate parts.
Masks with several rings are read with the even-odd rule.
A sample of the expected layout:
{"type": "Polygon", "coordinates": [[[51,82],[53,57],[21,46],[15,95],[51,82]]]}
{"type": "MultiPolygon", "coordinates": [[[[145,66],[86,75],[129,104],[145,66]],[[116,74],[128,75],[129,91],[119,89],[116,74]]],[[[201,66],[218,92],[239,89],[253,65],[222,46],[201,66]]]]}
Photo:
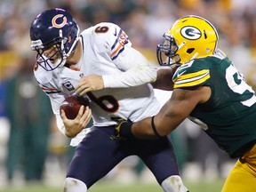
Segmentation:
{"type": "Polygon", "coordinates": [[[183,76],[178,76],[173,79],[174,88],[196,86],[204,83],[210,78],[210,72],[208,69],[197,71],[196,73],[190,73],[183,76]]]}

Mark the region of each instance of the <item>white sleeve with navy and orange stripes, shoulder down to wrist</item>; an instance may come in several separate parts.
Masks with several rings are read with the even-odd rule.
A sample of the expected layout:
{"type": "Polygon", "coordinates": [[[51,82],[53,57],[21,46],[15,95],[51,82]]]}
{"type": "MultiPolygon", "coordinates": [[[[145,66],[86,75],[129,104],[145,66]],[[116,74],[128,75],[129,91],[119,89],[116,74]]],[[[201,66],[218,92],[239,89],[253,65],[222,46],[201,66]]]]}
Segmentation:
{"type": "Polygon", "coordinates": [[[98,44],[102,44],[100,54],[110,59],[122,73],[102,76],[104,87],[122,88],[156,81],[156,68],[132,47],[124,30],[112,23],[99,24],[101,28],[105,25],[108,31],[104,36],[99,35],[96,40],[98,44]]]}

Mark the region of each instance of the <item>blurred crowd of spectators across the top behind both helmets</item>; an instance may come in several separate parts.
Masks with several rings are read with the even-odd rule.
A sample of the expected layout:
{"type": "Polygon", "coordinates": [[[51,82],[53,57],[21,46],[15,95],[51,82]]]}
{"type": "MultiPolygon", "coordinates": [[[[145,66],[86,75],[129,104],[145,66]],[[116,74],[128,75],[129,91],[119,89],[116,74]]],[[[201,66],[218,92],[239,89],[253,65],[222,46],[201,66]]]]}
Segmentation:
{"type": "Polygon", "coordinates": [[[81,30],[100,21],[115,22],[133,46],[154,62],[156,44],[174,20],[187,14],[202,16],[217,28],[220,48],[247,76],[256,57],[255,4],[253,0],[1,0],[0,79],[15,73],[12,67],[20,58],[33,58],[28,36],[31,21],[52,7],[68,10],[81,30]]]}

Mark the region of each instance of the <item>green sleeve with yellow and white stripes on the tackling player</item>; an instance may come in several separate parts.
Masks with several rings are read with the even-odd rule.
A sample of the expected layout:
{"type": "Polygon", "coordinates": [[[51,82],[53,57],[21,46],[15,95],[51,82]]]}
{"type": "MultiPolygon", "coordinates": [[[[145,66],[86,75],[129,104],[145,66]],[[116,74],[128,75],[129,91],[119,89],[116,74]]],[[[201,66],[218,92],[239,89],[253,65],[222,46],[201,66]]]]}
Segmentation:
{"type": "Polygon", "coordinates": [[[191,60],[175,71],[172,76],[173,87],[175,89],[200,86],[205,84],[210,77],[210,69],[204,68],[204,63],[191,60]]]}

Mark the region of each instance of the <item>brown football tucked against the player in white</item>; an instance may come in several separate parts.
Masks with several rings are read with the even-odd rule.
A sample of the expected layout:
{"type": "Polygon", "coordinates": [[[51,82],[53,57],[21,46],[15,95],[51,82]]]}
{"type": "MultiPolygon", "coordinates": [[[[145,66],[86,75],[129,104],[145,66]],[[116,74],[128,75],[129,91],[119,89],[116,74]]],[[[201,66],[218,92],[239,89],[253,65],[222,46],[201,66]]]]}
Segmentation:
{"type": "MultiPolygon", "coordinates": [[[[86,107],[89,104],[90,104],[90,99],[88,97],[86,96],[83,97],[83,96],[74,94],[69,96],[62,102],[62,104],[60,105],[60,112],[61,112],[61,109],[63,109],[68,119],[75,119],[79,112],[80,107],[82,105],[86,107]]],[[[84,108],[84,111],[85,111],[85,108],[84,108]]]]}

